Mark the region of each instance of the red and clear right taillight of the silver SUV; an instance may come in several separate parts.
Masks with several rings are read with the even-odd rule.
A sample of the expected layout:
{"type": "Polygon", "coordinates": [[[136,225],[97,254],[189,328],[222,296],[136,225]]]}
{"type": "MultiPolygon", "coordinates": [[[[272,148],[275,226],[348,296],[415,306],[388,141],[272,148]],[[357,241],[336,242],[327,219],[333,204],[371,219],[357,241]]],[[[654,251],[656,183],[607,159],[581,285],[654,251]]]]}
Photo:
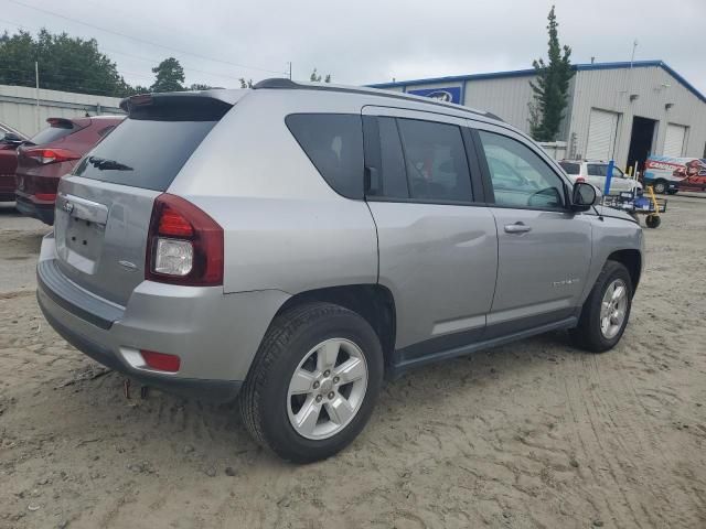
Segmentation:
{"type": "Polygon", "coordinates": [[[158,196],[145,279],[193,287],[223,284],[223,228],[184,198],[168,193],[158,196]]]}

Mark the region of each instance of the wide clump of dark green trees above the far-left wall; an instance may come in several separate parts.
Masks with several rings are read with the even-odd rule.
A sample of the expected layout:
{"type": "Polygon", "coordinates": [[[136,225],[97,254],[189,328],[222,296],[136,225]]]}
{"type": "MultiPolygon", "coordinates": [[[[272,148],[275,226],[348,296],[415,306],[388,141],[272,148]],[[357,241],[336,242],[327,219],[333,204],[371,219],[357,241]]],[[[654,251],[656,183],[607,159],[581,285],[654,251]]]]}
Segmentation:
{"type": "Polygon", "coordinates": [[[122,97],[131,88],[117,65],[98,51],[95,39],[41,30],[36,37],[25,31],[0,36],[0,84],[34,86],[34,62],[39,64],[40,87],[122,97]]]}

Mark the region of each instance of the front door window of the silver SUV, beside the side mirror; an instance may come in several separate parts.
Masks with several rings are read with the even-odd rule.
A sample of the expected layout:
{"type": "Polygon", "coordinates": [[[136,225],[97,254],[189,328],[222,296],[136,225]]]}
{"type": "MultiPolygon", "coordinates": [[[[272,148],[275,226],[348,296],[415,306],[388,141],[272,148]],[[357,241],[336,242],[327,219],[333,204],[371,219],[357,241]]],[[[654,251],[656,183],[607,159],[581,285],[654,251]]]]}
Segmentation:
{"type": "Polygon", "coordinates": [[[506,136],[479,131],[495,204],[554,209],[564,206],[564,182],[528,147],[506,136]]]}

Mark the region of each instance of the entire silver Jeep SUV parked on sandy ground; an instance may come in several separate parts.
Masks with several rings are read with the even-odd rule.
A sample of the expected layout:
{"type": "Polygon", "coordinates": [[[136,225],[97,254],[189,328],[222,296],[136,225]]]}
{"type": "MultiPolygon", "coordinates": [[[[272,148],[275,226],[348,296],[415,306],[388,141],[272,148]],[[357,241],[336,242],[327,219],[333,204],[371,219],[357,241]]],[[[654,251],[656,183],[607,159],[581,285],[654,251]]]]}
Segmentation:
{"type": "Polygon", "coordinates": [[[492,115],[285,79],[124,108],[62,179],[42,311],[141,384],[239,395],[287,460],[349,444],[384,378],[628,323],[639,225],[492,115]]]}

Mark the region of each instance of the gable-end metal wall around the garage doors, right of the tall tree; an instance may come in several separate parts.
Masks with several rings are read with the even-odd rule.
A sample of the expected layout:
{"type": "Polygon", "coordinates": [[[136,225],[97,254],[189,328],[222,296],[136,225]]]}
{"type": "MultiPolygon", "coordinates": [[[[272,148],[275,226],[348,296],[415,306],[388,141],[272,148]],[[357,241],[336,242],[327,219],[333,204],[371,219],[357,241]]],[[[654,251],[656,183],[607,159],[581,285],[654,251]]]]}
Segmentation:
{"type": "Polygon", "coordinates": [[[620,166],[628,162],[633,116],[657,121],[653,143],[655,154],[663,153],[668,123],[688,127],[683,151],[685,156],[700,158],[704,153],[706,102],[661,67],[576,73],[569,137],[576,134],[579,154],[586,153],[592,108],[620,115],[613,154],[620,166]],[[638,98],[631,101],[631,95],[638,98]]]}

